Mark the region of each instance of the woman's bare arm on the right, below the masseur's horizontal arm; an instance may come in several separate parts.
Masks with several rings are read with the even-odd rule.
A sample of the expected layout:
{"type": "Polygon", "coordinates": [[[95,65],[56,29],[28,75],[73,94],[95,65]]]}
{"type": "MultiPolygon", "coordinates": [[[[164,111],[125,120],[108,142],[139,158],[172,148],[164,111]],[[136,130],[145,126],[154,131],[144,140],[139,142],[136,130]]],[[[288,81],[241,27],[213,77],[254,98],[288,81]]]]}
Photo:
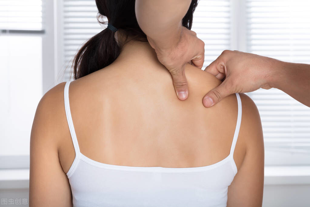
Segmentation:
{"type": "Polygon", "coordinates": [[[239,138],[246,143],[246,154],[228,187],[227,206],[262,206],[264,182],[264,143],[259,112],[254,102],[240,94],[242,120],[239,138]]]}

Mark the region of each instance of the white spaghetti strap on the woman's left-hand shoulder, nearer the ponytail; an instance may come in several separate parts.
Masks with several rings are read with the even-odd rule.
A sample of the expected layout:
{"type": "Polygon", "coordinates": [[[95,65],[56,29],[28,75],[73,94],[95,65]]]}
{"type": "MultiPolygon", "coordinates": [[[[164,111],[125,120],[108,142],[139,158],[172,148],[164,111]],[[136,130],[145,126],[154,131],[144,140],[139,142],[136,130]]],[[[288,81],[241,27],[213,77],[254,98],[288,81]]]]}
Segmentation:
{"type": "Polygon", "coordinates": [[[75,158],[73,160],[72,166],[69,169],[67,175],[70,177],[70,175],[73,173],[75,167],[77,166],[79,157],[80,157],[80,148],[78,146],[78,139],[75,134],[74,126],[73,126],[73,121],[72,121],[72,116],[71,116],[71,111],[70,111],[70,104],[69,104],[69,85],[71,81],[66,82],[64,86],[64,109],[66,111],[66,116],[67,116],[67,122],[69,125],[69,130],[74,146],[74,151],[75,151],[75,158]]]}

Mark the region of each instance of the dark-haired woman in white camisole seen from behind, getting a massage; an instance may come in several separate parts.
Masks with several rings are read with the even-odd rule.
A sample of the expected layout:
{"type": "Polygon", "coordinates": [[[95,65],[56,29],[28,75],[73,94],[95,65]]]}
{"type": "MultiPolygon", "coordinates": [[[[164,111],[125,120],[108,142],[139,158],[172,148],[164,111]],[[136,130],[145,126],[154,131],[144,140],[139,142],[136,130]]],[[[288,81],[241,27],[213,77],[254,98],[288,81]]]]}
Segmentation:
{"type": "MultiPolygon", "coordinates": [[[[237,93],[206,109],[201,98],[220,81],[190,64],[190,95],[180,101],[135,2],[96,3],[109,27],[76,55],[75,80],[38,104],[30,206],[261,206],[263,135],[253,101],[237,93]]],[[[188,29],[196,3],[182,20],[188,29]]]]}

